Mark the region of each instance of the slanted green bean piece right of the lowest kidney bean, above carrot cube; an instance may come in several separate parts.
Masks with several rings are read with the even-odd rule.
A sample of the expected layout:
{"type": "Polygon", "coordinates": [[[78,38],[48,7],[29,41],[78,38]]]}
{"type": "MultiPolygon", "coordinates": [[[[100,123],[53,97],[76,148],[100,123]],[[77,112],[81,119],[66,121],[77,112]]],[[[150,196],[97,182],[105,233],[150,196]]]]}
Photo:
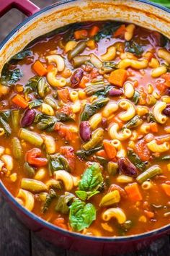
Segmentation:
{"type": "Polygon", "coordinates": [[[150,168],[148,168],[146,171],[143,171],[142,174],[140,174],[136,180],[137,182],[139,182],[140,184],[145,182],[147,179],[151,179],[153,176],[156,176],[158,174],[161,174],[162,170],[160,168],[160,166],[151,166],[150,168]]]}

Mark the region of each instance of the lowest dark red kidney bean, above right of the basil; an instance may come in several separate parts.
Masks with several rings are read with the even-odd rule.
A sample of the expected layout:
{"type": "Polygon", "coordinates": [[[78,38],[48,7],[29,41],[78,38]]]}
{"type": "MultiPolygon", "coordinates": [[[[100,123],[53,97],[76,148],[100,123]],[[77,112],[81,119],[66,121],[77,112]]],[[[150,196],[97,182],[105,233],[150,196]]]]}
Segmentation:
{"type": "Polygon", "coordinates": [[[137,168],[131,163],[128,158],[120,158],[118,161],[119,170],[122,174],[135,177],[137,176],[137,168]]]}

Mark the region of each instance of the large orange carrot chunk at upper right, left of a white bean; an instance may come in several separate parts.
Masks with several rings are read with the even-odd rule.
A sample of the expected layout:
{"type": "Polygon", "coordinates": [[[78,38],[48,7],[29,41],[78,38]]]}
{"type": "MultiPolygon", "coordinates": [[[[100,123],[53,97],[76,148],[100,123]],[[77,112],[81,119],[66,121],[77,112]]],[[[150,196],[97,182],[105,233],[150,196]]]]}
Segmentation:
{"type": "Polygon", "coordinates": [[[117,69],[110,73],[109,75],[109,82],[112,85],[117,85],[122,87],[125,80],[127,80],[128,72],[125,69],[117,69]]]}

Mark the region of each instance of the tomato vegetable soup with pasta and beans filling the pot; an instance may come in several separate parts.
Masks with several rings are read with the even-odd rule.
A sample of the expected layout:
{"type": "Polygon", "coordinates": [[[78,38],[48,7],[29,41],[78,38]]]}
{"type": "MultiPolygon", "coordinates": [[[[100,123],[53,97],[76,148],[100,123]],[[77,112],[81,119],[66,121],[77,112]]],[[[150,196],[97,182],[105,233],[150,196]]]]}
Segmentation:
{"type": "Polygon", "coordinates": [[[91,236],[170,221],[170,43],[132,24],[86,22],[5,64],[0,175],[25,208],[91,236]]]}

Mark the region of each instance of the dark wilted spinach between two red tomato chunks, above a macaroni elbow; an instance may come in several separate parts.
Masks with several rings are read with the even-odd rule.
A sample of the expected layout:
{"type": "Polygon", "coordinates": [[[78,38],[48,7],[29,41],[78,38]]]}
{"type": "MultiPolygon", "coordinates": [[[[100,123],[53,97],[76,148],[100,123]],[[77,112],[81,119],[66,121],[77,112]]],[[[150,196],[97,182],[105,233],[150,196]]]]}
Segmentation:
{"type": "Polygon", "coordinates": [[[65,157],[63,157],[63,155],[59,153],[48,155],[48,163],[49,163],[50,175],[53,175],[54,171],[70,170],[68,161],[66,160],[65,157]]]}

